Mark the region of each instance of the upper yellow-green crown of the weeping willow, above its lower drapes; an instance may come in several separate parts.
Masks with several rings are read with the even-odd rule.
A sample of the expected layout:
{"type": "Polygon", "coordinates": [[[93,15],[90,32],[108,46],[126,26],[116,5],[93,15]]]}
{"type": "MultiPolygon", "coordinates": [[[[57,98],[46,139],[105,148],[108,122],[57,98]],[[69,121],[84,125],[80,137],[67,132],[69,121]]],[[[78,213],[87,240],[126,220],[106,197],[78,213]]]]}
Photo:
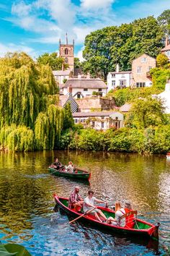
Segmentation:
{"type": "MultiPolygon", "coordinates": [[[[56,95],[58,88],[49,66],[35,64],[27,54],[14,53],[0,59],[0,93],[0,128],[22,124],[34,129],[49,95],[56,95]]],[[[56,101],[55,96],[52,102],[56,101]]]]}

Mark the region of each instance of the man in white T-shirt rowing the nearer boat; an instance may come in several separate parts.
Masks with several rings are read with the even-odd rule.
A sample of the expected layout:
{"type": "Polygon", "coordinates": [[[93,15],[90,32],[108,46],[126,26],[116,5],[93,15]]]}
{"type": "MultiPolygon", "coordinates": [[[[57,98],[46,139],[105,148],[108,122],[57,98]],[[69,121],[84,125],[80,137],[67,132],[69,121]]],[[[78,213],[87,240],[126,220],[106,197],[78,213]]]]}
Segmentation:
{"type": "MultiPolygon", "coordinates": [[[[104,202],[103,200],[99,200],[94,197],[94,192],[92,190],[88,191],[88,196],[84,199],[84,213],[91,210],[92,208],[96,207],[94,210],[91,211],[90,214],[94,215],[97,221],[102,222],[102,217],[104,221],[107,221],[107,217],[102,213],[102,210],[97,209],[97,206],[94,205],[95,202],[104,202]]],[[[107,203],[107,202],[104,202],[107,203]]]]}

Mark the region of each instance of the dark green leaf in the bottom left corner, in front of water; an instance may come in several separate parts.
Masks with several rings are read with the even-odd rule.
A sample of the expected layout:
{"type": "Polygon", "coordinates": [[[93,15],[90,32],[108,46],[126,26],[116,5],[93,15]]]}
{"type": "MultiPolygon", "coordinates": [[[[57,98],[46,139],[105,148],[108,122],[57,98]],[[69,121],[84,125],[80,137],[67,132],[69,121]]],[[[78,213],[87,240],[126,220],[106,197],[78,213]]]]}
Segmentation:
{"type": "Polygon", "coordinates": [[[31,256],[30,253],[20,244],[0,244],[1,256],[31,256]]]}

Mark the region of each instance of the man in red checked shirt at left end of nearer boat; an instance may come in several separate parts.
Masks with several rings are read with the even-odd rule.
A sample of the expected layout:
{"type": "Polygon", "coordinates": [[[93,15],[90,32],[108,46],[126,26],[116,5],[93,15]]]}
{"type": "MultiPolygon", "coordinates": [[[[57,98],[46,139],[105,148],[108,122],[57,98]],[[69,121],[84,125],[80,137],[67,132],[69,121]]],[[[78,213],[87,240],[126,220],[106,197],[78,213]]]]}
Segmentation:
{"type": "Polygon", "coordinates": [[[68,208],[70,208],[72,210],[74,209],[77,212],[81,211],[81,208],[84,204],[84,200],[79,195],[79,190],[80,190],[80,188],[76,186],[74,188],[73,192],[71,192],[71,195],[68,200],[68,208]]]}

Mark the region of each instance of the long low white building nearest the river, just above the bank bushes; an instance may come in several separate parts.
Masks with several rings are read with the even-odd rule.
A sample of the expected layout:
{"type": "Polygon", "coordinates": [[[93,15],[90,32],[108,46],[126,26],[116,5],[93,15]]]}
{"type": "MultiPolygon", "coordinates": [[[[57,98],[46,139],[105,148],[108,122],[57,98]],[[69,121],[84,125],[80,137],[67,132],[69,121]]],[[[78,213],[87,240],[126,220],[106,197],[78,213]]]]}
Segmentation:
{"type": "Polygon", "coordinates": [[[75,124],[83,124],[84,128],[106,130],[110,127],[123,127],[123,114],[115,111],[76,112],[73,113],[73,119],[75,124]]]}

